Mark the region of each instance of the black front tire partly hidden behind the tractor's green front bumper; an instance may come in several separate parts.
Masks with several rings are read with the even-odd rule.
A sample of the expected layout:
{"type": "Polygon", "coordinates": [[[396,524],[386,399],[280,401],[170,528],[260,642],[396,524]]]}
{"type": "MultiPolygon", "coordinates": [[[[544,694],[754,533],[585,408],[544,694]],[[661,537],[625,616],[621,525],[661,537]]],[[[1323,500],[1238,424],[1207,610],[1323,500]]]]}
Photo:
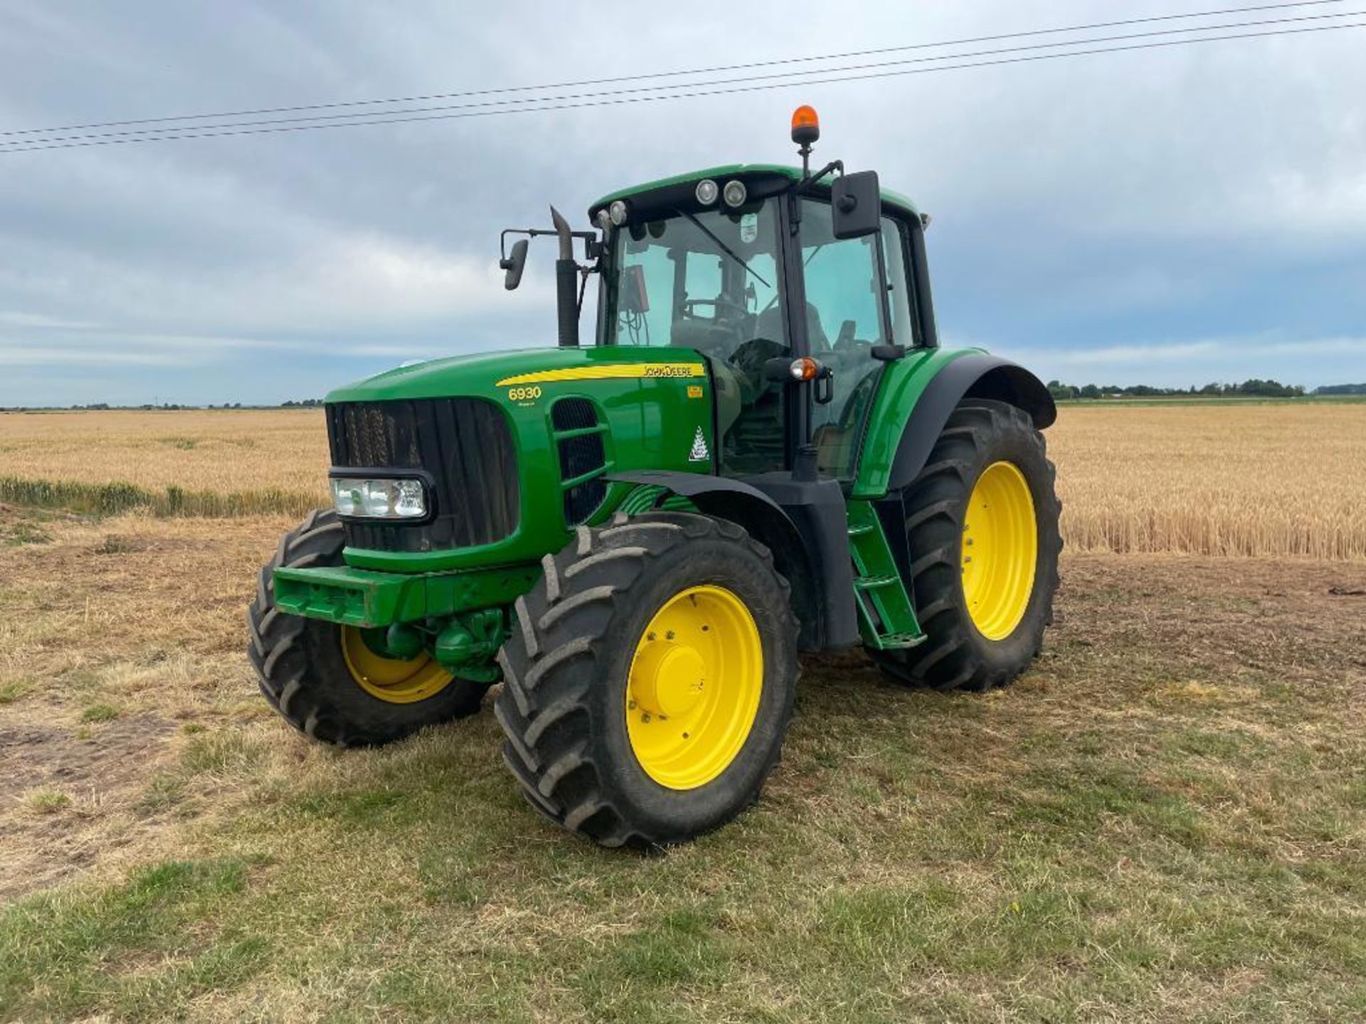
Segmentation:
{"type": "MultiPolygon", "coordinates": [[[[402,702],[374,696],[357,680],[351,668],[357,659],[348,658],[343,647],[348,638],[343,627],[292,616],[275,606],[276,568],[342,565],[344,545],[336,512],[317,509],[280,538],[275,557],[261,568],[257,595],[247,609],[251,638],[247,657],[270,706],[299,732],[335,747],[380,745],[425,725],[478,711],[489,684],[456,677],[444,684],[438,677],[425,689],[396,691],[393,696],[402,696],[402,702]],[[433,692],[421,696],[426,691],[433,692]]],[[[357,638],[350,639],[354,644],[357,638]]],[[[400,662],[373,654],[365,657],[369,664],[381,666],[411,664],[414,672],[426,670],[432,679],[428,662],[419,659],[400,662]]]]}

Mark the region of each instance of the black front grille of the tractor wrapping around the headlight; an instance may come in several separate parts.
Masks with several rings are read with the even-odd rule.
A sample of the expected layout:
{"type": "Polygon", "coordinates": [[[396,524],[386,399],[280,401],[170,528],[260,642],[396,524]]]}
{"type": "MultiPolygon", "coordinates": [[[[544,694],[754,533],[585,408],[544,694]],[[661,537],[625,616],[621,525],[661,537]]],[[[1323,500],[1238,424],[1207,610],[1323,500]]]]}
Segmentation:
{"type": "Polygon", "coordinates": [[[516,530],[516,449],[503,412],[482,399],[343,401],[326,407],[332,464],[426,470],[426,523],[346,523],[352,547],[430,552],[493,543],[516,530]]]}

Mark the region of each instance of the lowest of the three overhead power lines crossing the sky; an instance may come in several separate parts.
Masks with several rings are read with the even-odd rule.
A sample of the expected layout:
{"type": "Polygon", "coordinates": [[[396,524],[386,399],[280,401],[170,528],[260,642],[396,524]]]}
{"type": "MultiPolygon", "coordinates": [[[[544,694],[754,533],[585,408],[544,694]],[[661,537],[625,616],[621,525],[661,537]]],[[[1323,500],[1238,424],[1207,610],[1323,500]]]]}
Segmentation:
{"type": "MultiPolygon", "coordinates": [[[[1366,12],[1352,11],[1352,12],[1346,12],[1343,15],[1336,15],[1336,16],[1348,18],[1348,16],[1358,16],[1358,15],[1362,15],[1362,14],[1366,14],[1366,12]]],[[[1276,22],[1264,22],[1264,23],[1279,23],[1279,22],[1283,22],[1283,20],[1300,20],[1300,19],[1277,19],[1276,22]]],[[[1195,29],[1194,31],[1217,31],[1221,27],[1235,27],[1235,26],[1208,26],[1205,29],[1195,29]]],[[[615,105],[634,104],[634,102],[657,102],[660,100],[684,100],[684,98],[697,98],[697,97],[709,97],[709,96],[728,96],[728,94],[735,94],[735,93],[772,91],[772,90],[776,90],[776,89],[795,89],[795,87],[806,87],[806,86],[813,86],[813,85],[833,85],[833,83],[841,83],[841,82],[861,82],[861,81],[881,79],[881,78],[896,78],[896,76],[906,76],[906,75],[923,75],[923,74],[930,74],[930,72],[936,72],[936,71],[963,71],[963,70],[971,70],[971,68],[996,67],[996,66],[1007,66],[1007,64],[1030,64],[1030,63],[1037,63],[1037,61],[1044,61],[1044,60],[1057,60],[1057,59],[1061,59],[1061,57],[1078,57],[1078,56],[1091,56],[1091,55],[1100,55],[1100,53],[1120,53],[1120,52],[1134,52],[1134,51],[1146,51],[1146,49],[1161,49],[1161,48],[1171,48],[1171,46],[1195,45],[1195,44],[1203,44],[1203,42],[1227,42],[1227,41],[1239,41],[1239,40],[1272,38],[1272,37],[1281,37],[1281,35],[1302,35],[1302,34],[1307,34],[1307,33],[1335,31],[1335,30],[1341,30],[1341,29],[1361,29],[1361,27],[1366,27],[1366,22],[1347,22],[1347,23],[1339,23],[1339,25],[1315,25],[1315,26],[1298,27],[1298,29],[1276,29],[1276,30],[1270,30],[1270,31],[1233,33],[1233,34],[1224,34],[1224,35],[1205,35],[1205,37],[1198,37],[1198,38],[1158,40],[1158,41],[1147,41],[1147,42],[1130,44],[1130,45],[1121,45],[1121,46],[1100,46],[1100,48],[1090,48],[1090,49],[1068,49],[1068,51],[1056,52],[1056,53],[1030,53],[1027,56],[1000,57],[1000,59],[992,59],[992,60],[973,60],[973,61],[956,63],[956,64],[937,64],[934,67],[914,67],[914,68],[899,67],[897,70],[891,70],[891,71],[887,71],[887,70],[884,70],[884,71],[870,71],[870,72],[866,72],[866,74],[855,74],[855,75],[839,74],[839,75],[826,76],[826,78],[803,78],[802,81],[768,82],[768,83],[761,83],[761,85],[750,83],[750,85],[739,85],[739,86],[720,87],[720,89],[719,87],[710,87],[710,86],[719,85],[717,82],[699,82],[699,83],[687,83],[684,86],[673,86],[673,87],[675,89],[693,89],[693,86],[708,86],[708,87],[693,89],[693,91],[673,91],[673,93],[663,93],[663,91],[658,91],[658,90],[643,90],[643,91],[647,91],[647,94],[643,94],[643,96],[623,96],[622,93],[627,91],[627,90],[617,90],[617,91],[609,91],[609,93],[590,93],[590,94],[585,94],[585,96],[589,96],[589,97],[593,97],[593,98],[582,98],[582,100],[570,101],[570,102],[550,102],[550,100],[555,100],[556,97],[541,97],[538,100],[525,101],[525,105],[501,106],[500,109],[469,109],[469,106],[474,106],[475,105],[475,104],[471,104],[471,105],[466,105],[466,106],[458,106],[458,108],[455,108],[455,112],[418,113],[418,115],[413,115],[413,116],[380,116],[380,117],[373,117],[373,119],[366,119],[366,120],[332,120],[332,122],[325,122],[325,123],[317,123],[317,119],[309,119],[311,123],[307,123],[307,124],[276,124],[273,127],[243,127],[246,124],[251,124],[250,122],[243,122],[239,126],[231,126],[231,124],[227,124],[227,126],[213,126],[213,124],[209,124],[209,126],[184,126],[183,128],[176,128],[176,130],[161,130],[161,131],[171,131],[173,134],[145,135],[145,134],[141,134],[141,132],[131,132],[131,131],[130,132],[108,132],[108,135],[117,135],[117,138],[102,138],[101,137],[101,138],[93,138],[92,141],[79,141],[79,142],[78,141],[48,139],[48,138],[23,139],[25,143],[33,143],[33,145],[10,145],[8,147],[0,145],[0,154],[4,154],[4,153],[33,153],[33,152],[48,150],[48,149],[79,149],[79,147],[87,147],[87,146],[115,146],[115,145],[130,145],[130,143],[142,143],[142,142],[176,142],[176,141],[182,141],[182,139],[220,138],[220,137],[228,137],[228,135],[262,135],[262,134],[291,132],[291,131],[316,131],[316,130],[322,130],[322,128],[365,127],[365,126],[377,126],[377,124],[408,124],[408,123],[434,122],[434,120],[459,120],[459,119],[466,119],[466,117],[490,117],[490,116],[508,115],[508,113],[542,113],[542,112],[552,112],[552,111],[581,109],[581,108],[589,108],[589,106],[615,106],[615,105]],[[135,137],[133,137],[133,135],[135,135],[135,137]],[[133,138],[130,138],[130,137],[133,137],[133,138]]],[[[1153,34],[1158,34],[1158,33],[1135,33],[1132,35],[1120,35],[1120,37],[1113,37],[1113,38],[1139,38],[1139,37],[1153,35],[1153,34]]],[[[1083,40],[1083,41],[1078,41],[1075,45],[1085,45],[1087,42],[1094,42],[1094,41],[1097,41],[1097,40],[1083,40]]],[[[1074,45],[1074,44],[1052,44],[1052,45],[1074,45]]],[[[1035,49],[1035,46],[1016,46],[1016,48],[1005,48],[1005,49],[1000,49],[1000,51],[985,51],[985,53],[1014,53],[1014,52],[1019,52],[1019,51],[1024,51],[1024,49],[1035,49]]],[[[963,53],[959,53],[959,55],[947,55],[944,57],[930,57],[928,60],[960,60],[964,56],[975,56],[975,55],[970,55],[970,53],[968,55],[963,55],[963,53]]],[[[889,61],[889,63],[900,66],[900,64],[912,63],[912,61],[889,61]]],[[[831,72],[835,72],[835,71],[847,71],[847,70],[850,70],[850,68],[825,68],[825,70],[821,70],[821,71],[813,71],[813,72],[807,72],[807,74],[822,75],[822,74],[831,74],[831,72]]],[[[764,78],[775,78],[775,75],[759,75],[759,76],[753,76],[753,78],[754,79],[764,79],[764,78]]],[[[735,79],[735,81],[746,81],[746,79],[735,79]]],[[[753,82],[753,79],[749,79],[749,81],[753,82]]],[[[567,98],[567,97],[559,97],[559,98],[567,98]]],[[[445,109],[445,108],[436,108],[436,109],[445,109]]],[[[403,113],[403,112],[393,112],[393,113],[403,113]]],[[[79,138],[79,137],[76,137],[76,138],[79,138]]]]}

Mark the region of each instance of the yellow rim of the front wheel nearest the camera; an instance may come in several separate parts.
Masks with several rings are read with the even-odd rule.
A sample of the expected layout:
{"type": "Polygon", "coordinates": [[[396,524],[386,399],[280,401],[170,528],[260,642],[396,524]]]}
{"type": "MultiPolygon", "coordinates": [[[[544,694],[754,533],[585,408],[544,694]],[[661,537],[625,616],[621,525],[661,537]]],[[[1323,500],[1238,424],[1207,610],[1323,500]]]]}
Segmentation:
{"type": "Polygon", "coordinates": [[[764,646],[750,609],[724,587],[688,587],[654,613],[631,658],[631,751],[661,786],[703,786],[740,752],[762,692],[764,646]]]}

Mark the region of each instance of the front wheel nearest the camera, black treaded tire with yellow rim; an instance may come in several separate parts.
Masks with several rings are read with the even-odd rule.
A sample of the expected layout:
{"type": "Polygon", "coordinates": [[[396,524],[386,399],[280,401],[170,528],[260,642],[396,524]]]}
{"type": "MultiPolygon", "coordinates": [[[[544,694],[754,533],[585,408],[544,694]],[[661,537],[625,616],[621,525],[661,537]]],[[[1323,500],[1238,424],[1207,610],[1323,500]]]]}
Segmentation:
{"type": "Polygon", "coordinates": [[[499,654],[503,756],[533,807],[605,847],[682,842],[758,797],[796,692],[796,620],[734,523],[647,513],[546,556],[499,654]]]}

